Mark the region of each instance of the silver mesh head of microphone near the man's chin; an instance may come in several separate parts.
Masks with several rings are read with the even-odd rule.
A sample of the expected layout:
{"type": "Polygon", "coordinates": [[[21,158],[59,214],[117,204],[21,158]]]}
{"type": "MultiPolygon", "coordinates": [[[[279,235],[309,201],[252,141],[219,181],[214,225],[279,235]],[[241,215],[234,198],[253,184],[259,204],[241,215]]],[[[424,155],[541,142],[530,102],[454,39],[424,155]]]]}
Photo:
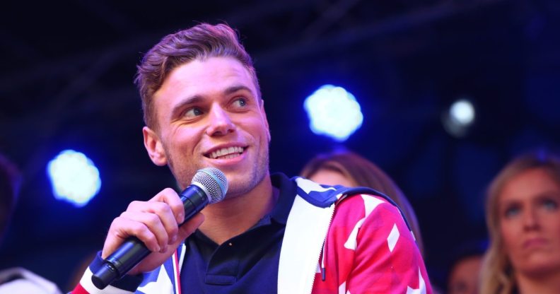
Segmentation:
{"type": "Polygon", "coordinates": [[[192,177],[191,184],[202,185],[209,193],[209,204],[223,200],[228,192],[228,180],[221,170],[215,167],[206,167],[198,170],[192,177]]]}

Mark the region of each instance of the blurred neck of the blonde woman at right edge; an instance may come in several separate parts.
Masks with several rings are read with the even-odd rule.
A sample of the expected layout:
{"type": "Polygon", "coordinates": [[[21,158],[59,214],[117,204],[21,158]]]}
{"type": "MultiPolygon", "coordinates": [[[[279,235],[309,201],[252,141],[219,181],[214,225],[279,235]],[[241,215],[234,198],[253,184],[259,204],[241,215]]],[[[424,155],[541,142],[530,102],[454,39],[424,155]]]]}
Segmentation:
{"type": "Polygon", "coordinates": [[[526,276],[516,274],[519,293],[554,294],[560,293],[560,271],[551,274],[526,276]]]}

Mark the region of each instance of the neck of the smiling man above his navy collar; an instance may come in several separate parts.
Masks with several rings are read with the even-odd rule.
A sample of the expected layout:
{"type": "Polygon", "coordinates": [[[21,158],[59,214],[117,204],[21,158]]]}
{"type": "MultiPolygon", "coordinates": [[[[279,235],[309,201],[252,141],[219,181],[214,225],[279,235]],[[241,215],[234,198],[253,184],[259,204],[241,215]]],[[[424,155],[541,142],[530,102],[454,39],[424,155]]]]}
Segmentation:
{"type": "MultiPolygon", "coordinates": [[[[276,189],[274,189],[276,191],[276,189]]],[[[269,175],[257,184],[249,193],[223,199],[216,204],[206,206],[204,223],[199,230],[216,244],[244,233],[255,225],[263,216],[272,211],[278,199],[273,193],[269,175]]]]}

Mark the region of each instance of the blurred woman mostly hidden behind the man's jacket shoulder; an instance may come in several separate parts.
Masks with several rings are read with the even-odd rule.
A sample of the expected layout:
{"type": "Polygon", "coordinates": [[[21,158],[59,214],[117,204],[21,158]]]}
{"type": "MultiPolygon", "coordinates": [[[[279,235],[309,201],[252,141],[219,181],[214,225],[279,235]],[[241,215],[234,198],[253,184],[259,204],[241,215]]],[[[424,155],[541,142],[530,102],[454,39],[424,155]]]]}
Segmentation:
{"type": "Polygon", "coordinates": [[[325,153],[312,158],[300,175],[320,184],[369,187],[389,196],[407,219],[421,254],[424,245],[416,214],[397,184],[370,160],[351,151],[325,153]]]}

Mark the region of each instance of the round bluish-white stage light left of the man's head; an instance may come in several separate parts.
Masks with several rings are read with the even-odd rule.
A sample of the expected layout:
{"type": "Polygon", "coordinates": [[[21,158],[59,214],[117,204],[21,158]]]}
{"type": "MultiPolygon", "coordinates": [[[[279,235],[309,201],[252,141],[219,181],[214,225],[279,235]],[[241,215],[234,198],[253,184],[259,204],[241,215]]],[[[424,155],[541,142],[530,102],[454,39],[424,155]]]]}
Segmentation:
{"type": "Polygon", "coordinates": [[[47,174],[54,197],[76,207],[85,206],[101,188],[99,170],[83,153],[62,151],[49,161],[47,174]]]}

